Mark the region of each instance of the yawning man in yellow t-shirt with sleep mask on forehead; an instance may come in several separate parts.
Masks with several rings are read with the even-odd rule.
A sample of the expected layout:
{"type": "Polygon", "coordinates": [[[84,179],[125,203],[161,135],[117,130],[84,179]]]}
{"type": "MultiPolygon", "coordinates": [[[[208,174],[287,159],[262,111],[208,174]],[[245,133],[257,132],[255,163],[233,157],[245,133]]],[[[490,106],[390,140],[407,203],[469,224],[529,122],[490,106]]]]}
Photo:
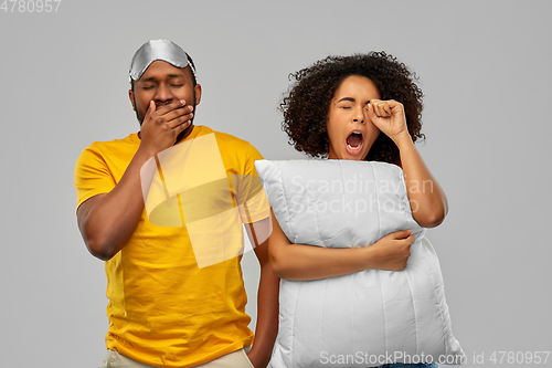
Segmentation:
{"type": "Polygon", "coordinates": [[[75,168],[78,228],[89,252],[106,261],[109,330],[107,357],[100,367],[265,367],[277,333],[279,282],[263,241],[267,234],[258,236],[267,229],[267,214],[253,214],[244,221],[261,242],[255,243],[262,271],[253,347],[241,256],[212,257],[212,253],[229,249],[230,235],[221,231],[226,228],[213,225],[219,222],[209,222],[233,213],[226,211],[229,203],[231,210],[241,204],[231,177],[256,176],[253,164],[262,157],[244,140],[193,125],[202,90],[192,60],[173,42],[145,43],[132,57],[130,83],[129,98],[140,132],[92,144],[75,168]],[[211,146],[203,146],[209,141],[211,146]],[[214,164],[198,168],[203,156],[214,157],[214,164]],[[171,194],[168,188],[177,171],[170,171],[174,166],[168,169],[170,157],[178,158],[172,162],[188,160],[191,165],[177,170],[177,185],[201,181],[212,176],[217,165],[224,180],[215,187],[211,182],[197,186],[208,190],[187,187],[189,190],[178,188],[178,193],[171,194]],[[147,167],[157,174],[148,174],[147,167]],[[148,186],[151,191],[156,178],[168,194],[167,201],[148,207],[148,186]],[[223,190],[212,189],[224,187],[224,182],[230,199],[223,198],[223,190]],[[200,207],[187,203],[198,202],[198,193],[202,207],[221,208],[188,221],[189,213],[194,214],[200,207]],[[208,231],[193,230],[205,221],[208,231]],[[206,232],[211,233],[205,236],[206,232]],[[213,248],[211,243],[216,244],[213,248]],[[206,262],[201,260],[205,254],[211,256],[206,262]]]}

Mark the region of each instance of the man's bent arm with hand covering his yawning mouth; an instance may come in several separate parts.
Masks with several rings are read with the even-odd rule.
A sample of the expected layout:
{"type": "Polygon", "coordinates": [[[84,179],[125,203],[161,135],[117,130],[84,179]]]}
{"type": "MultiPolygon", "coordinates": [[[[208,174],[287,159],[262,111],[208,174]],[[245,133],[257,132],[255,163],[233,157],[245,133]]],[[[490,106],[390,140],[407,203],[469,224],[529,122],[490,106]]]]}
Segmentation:
{"type": "Polygon", "coordinates": [[[140,129],[140,147],[125,175],[109,193],[92,197],[78,207],[77,223],[88,251],[109,260],[127,243],[144,210],[140,169],[152,156],[171,147],[189,126],[190,108],[177,101],[156,111],[150,103],[140,129]]]}

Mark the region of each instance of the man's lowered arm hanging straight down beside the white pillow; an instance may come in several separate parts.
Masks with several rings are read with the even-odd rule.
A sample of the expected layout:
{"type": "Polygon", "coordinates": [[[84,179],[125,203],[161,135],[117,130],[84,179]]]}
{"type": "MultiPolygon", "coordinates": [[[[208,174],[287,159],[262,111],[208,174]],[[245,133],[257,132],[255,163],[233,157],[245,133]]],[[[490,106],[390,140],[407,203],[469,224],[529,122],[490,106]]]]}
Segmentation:
{"type": "Polygon", "coordinates": [[[257,293],[257,325],[255,327],[255,340],[251,351],[247,354],[255,368],[264,368],[270,361],[274,341],[278,334],[278,294],[279,278],[274,274],[268,256],[268,241],[265,240],[257,245],[259,239],[266,239],[269,232],[269,219],[256,222],[254,225],[246,224],[245,229],[252,244],[255,244],[255,254],[261,264],[261,278],[257,293]],[[263,233],[259,234],[259,233],[263,233]]]}

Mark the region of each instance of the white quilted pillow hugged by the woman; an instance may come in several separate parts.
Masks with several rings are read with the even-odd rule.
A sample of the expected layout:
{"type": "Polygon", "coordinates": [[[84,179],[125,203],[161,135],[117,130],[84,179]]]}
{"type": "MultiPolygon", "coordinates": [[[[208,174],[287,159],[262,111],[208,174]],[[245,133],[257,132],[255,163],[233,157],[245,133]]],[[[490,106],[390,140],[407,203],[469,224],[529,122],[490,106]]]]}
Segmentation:
{"type": "Polygon", "coordinates": [[[416,238],[403,271],[282,280],[272,367],[464,362],[466,356],[453,336],[439,262],[425,229],[412,218],[400,167],[351,160],[258,160],[255,168],[293,243],[367,246],[405,229],[416,238]]]}

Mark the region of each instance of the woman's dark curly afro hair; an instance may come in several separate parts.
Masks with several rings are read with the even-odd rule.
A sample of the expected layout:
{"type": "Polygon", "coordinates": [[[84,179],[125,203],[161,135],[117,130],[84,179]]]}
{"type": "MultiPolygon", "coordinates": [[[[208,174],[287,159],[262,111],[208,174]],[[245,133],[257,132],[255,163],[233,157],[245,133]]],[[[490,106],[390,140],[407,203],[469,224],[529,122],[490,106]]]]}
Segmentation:
{"type": "MultiPolygon", "coordinates": [[[[295,78],[279,109],[284,113],[282,128],[295,149],[311,157],[326,157],[329,138],[326,130],[331,99],[348,76],[370,78],[381,99],[395,99],[404,105],[412,140],[425,138],[422,129],[422,90],[417,76],[396,57],[385,52],[351,56],[328,56],[314,65],[289,74],[295,78]]],[[[400,162],[399,148],[383,133],[370,148],[367,160],[400,162]]]]}

